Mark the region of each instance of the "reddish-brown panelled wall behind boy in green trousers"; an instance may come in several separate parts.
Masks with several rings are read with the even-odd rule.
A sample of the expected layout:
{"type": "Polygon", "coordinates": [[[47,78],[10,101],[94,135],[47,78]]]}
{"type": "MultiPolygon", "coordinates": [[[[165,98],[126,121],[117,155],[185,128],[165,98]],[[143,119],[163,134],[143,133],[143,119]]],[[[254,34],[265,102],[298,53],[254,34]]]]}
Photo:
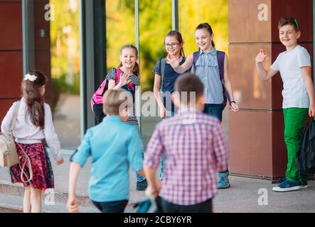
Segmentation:
{"type": "Polygon", "coordinates": [[[262,82],[255,67],[260,49],[267,50],[269,67],[280,52],[277,24],[280,17],[295,17],[301,28],[299,44],[313,57],[312,0],[230,0],[229,74],[240,112],[230,114],[230,169],[237,175],[284,176],[282,79],[279,74],[262,82]],[[237,135],[237,136],[236,136],[237,135]]]}

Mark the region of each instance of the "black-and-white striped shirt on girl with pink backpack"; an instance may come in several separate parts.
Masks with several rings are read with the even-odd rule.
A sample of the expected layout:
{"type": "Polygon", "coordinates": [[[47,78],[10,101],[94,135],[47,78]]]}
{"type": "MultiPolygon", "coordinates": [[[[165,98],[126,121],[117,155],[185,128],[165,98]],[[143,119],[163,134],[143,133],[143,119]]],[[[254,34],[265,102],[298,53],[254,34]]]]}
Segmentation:
{"type": "MultiPolygon", "coordinates": [[[[119,69],[120,70],[120,69],[119,69]]],[[[121,75],[124,74],[122,70],[120,70],[121,75]]],[[[108,80],[116,80],[116,69],[111,69],[110,72],[107,73],[106,79],[108,80]]],[[[119,78],[120,79],[120,78],[119,78]]],[[[132,84],[132,87],[134,89],[127,89],[127,86],[122,87],[123,89],[127,89],[127,91],[132,92],[132,96],[134,97],[136,94],[136,91],[139,90],[140,86],[140,78],[139,76],[132,74],[130,77],[130,84],[132,84]]],[[[134,99],[135,101],[135,99],[134,99]]],[[[135,105],[132,105],[132,108],[129,109],[129,118],[127,119],[126,123],[132,124],[132,125],[138,125],[138,120],[136,116],[136,108],[135,105]]]]}

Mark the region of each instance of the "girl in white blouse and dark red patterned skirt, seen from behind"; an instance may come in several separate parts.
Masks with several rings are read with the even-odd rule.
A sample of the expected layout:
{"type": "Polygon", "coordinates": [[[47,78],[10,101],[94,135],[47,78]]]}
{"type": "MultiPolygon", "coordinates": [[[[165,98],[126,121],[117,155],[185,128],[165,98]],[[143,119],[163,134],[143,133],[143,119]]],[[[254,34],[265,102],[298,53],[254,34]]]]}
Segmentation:
{"type": "Polygon", "coordinates": [[[14,165],[11,167],[10,174],[13,183],[23,182],[25,187],[24,213],[41,212],[42,192],[45,189],[54,188],[53,168],[47,150],[43,146],[43,139],[46,140],[57,165],[63,164],[60,142],[53,126],[50,106],[43,101],[46,82],[47,77],[42,72],[37,70],[28,72],[23,77],[21,86],[23,98],[11,106],[1,124],[1,131],[9,131],[11,120],[14,117],[14,109],[16,105],[19,105],[13,135],[18,156],[21,157],[21,167],[14,165]],[[29,163],[26,160],[30,160],[31,167],[29,164],[25,164],[29,163]]]}

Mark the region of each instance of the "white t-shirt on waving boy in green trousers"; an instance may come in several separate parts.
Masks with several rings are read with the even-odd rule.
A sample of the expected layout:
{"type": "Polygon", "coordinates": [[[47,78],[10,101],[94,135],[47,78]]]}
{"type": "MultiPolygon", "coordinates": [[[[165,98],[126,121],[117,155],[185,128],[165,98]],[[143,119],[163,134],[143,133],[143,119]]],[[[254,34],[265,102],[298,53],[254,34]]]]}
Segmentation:
{"type": "Polygon", "coordinates": [[[283,82],[282,108],[309,108],[307,94],[301,67],[311,66],[309,52],[300,45],[287,52],[282,52],[270,68],[279,71],[283,82]]]}

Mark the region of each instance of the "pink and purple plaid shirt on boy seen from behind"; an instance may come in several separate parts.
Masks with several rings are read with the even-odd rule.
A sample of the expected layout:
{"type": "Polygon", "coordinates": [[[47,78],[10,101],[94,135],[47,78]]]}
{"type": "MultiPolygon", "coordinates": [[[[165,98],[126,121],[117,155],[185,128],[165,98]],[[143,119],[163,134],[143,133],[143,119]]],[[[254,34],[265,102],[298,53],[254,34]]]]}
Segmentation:
{"type": "Polygon", "coordinates": [[[216,172],[228,170],[228,143],[216,118],[201,111],[178,111],[156,126],[144,165],[157,168],[166,151],[160,196],[173,204],[194,205],[218,193],[216,172]]]}

